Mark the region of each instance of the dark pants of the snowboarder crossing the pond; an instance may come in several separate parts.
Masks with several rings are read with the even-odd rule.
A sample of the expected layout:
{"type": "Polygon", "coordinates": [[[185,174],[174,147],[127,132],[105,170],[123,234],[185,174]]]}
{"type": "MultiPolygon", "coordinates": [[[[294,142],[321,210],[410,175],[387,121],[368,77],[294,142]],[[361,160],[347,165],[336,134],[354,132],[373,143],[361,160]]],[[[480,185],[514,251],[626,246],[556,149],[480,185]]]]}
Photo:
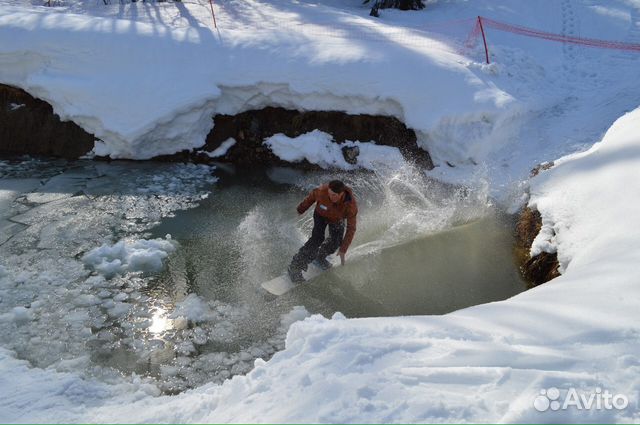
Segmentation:
{"type": "Polygon", "coordinates": [[[344,237],[344,222],[329,223],[326,218],[313,212],[313,231],[309,240],[300,248],[291,260],[293,270],[304,271],[314,259],[325,259],[338,250],[344,237]],[[329,226],[329,239],[324,239],[325,230],[329,226]]]}

